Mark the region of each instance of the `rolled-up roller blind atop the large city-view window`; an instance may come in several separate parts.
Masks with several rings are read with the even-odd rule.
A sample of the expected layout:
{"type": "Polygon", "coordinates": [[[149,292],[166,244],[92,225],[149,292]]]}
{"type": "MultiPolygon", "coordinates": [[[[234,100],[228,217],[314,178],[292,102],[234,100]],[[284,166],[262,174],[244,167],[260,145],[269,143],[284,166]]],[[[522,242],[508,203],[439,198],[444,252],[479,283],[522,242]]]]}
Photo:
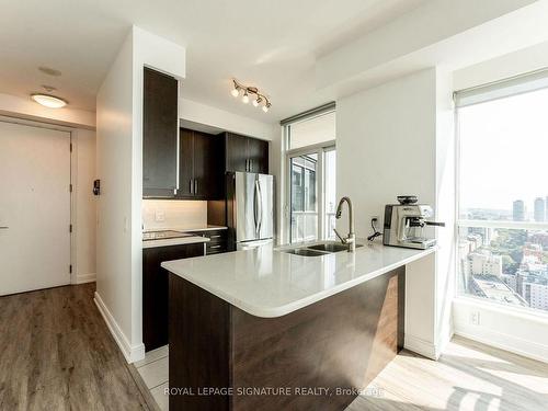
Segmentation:
{"type": "Polygon", "coordinates": [[[454,93],[454,99],[457,107],[465,107],[545,88],[548,88],[548,69],[536,70],[484,85],[459,90],[454,93]]]}

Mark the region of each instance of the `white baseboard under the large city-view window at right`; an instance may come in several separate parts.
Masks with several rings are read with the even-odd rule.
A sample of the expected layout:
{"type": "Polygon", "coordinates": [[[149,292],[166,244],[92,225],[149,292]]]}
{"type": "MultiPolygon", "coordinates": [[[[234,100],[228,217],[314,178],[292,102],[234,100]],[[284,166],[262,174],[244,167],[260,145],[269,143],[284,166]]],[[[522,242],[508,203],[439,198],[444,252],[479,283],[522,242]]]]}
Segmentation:
{"type": "Polygon", "coordinates": [[[523,355],[543,363],[548,363],[548,346],[514,336],[510,333],[501,333],[486,327],[467,323],[455,323],[455,334],[466,339],[475,340],[486,345],[523,355]]]}

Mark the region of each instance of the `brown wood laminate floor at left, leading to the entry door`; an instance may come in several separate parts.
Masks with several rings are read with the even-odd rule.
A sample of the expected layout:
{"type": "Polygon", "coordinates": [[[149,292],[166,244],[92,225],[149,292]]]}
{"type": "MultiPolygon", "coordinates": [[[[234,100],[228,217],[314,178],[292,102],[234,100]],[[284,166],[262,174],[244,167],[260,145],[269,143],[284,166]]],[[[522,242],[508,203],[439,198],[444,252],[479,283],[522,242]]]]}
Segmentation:
{"type": "Polygon", "coordinates": [[[148,410],[94,283],[0,297],[0,410],[148,410]]]}

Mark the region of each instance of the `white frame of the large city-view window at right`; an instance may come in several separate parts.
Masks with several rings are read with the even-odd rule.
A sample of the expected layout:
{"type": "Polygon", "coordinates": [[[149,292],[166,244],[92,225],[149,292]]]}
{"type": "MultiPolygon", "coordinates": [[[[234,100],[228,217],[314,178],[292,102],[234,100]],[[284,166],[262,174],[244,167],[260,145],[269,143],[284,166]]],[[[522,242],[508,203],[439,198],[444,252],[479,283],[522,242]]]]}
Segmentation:
{"type": "MultiPolygon", "coordinates": [[[[522,77],[522,76],[520,76],[522,77]]],[[[523,76],[525,77],[525,76],[523,76]]],[[[514,80],[513,78],[512,80],[514,80]]],[[[503,81],[501,81],[503,83],[503,81]]],[[[486,87],[492,88],[493,83],[486,84],[486,87]]],[[[475,89],[480,89],[475,88],[475,89]]],[[[538,89],[530,90],[530,91],[525,91],[525,92],[534,92],[538,89]]],[[[459,129],[459,109],[469,106],[469,105],[475,105],[475,104],[482,104],[482,103],[488,103],[490,101],[499,100],[499,98],[492,99],[492,100],[487,100],[482,101],[479,103],[475,104],[466,104],[466,105],[458,105],[457,104],[457,99],[458,94],[461,92],[467,92],[468,90],[461,90],[461,91],[456,91],[454,92],[454,130],[455,130],[455,238],[454,238],[454,250],[455,250],[455,258],[454,264],[455,264],[455,276],[456,276],[456,284],[457,286],[455,287],[455,294],[454,298],[463,301],[469,301],[471,304],[476,304],[479,307],[487,307],[487,308],[492,308],[495,309],[500,312],[509,312],[509,313],[518,313],[523,315],[525,317],[530,317],[530,318],[541,318],[544,320],[548,319],[548,311],[544,311],[538,308],[532,308],[532,307],[521,307],[521,306],[514,306],[510,304],[504,304],[500,301],[494,301],[489,298],[482,298],[482,297],[477,297],[472,296],[469,294],[459,294],[459,259],[458,259],[458,251],[459,251],[459,232],[460,229],[465,228],[501,228],[501,229],[523,229],[523,230],[548,230],[548,221],[514,221],[514,220],[480,220],[480,219],[466,219],[461,218],[460,214],[460,189],[461,189],[461,181],[460,181],[460,171],[461,171],[461,138],[460,138],[460,129],[459,129]]],[[[518,95],[522,93],[514,93],[510,94],[504,98],[512,98],[514,95],[518,95]]]]}

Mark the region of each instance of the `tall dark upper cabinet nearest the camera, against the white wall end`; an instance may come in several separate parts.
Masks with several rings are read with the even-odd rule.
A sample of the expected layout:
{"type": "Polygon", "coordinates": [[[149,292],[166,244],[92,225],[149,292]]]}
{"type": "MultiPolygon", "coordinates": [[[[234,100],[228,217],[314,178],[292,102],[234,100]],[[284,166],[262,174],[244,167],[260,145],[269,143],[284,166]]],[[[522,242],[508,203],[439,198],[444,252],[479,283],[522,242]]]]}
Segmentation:
{"type": "Polygon", "coordinates": [[[173,197],[176,189],[178,80],[144,69],[142,194],[173,197]]]}

